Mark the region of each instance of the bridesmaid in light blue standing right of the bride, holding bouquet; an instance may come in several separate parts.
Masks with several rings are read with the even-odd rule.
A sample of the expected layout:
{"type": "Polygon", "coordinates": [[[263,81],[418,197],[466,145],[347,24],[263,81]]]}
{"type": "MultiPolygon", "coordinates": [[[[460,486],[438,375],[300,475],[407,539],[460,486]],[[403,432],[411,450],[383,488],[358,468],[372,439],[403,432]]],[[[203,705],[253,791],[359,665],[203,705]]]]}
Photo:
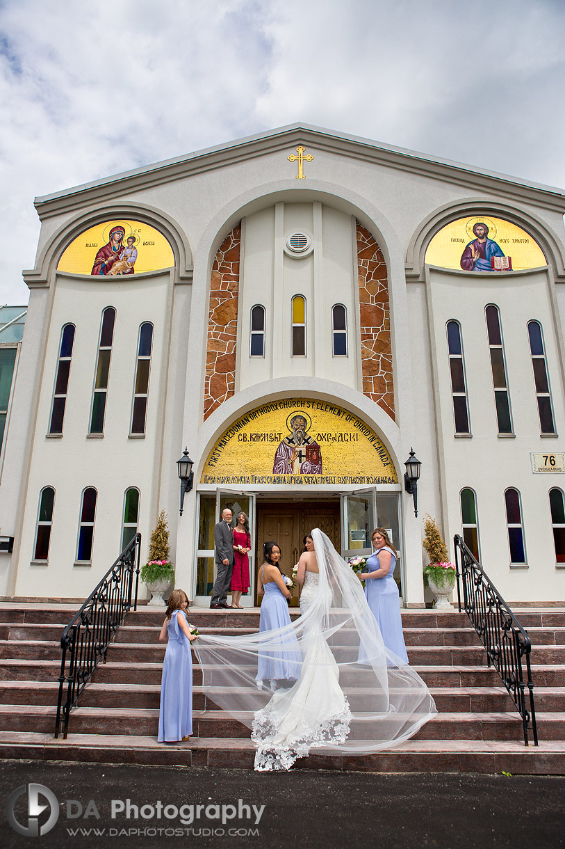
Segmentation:
{"type": "MultiPolygon", "coordinates": [[[[371,539],[373,548],[377,550],[366,560],[368,571],[358,574],[361,581],[366,582],[366,600],[381,629],[385,647],[396,655],[401,664],[406,664],[408,655],[402,633],[400,596],[394,581],[396,550],[384,528],[375,528],[371,539]]],[[[364,654],[362,649],[360,661],[361,654],[364,654]]]]}

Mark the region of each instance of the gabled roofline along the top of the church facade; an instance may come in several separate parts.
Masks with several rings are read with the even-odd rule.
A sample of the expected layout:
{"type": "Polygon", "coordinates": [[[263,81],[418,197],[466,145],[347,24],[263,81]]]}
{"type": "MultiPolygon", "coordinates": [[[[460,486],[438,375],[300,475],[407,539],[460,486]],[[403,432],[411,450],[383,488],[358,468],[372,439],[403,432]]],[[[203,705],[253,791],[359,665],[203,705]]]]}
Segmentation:
{"type": "Polygon", "coordinates": [[[546,209],[565,211],[565,191],[561,188],[545,186],[542,183],[511,177],[497,171],[475,168],[462,162],[441,160],[417,150],[397,148],[369,138],[301,123],[277,127],[274,130],[156,162],[154,165],[123,171],[120,174],[94,180],[91,183],[83,183],[61,192],[36,197],[34,204],[37,214],[43,219],[89,202],[99,203],[104,198],[131,191],[134,188],[146,188],[155,183],[169,182],[178,177],[210,171],[249,157],[266,155],[277,149],[286,148],[296,140],[302,142],[310,140],[310,143],[315,144],[318,149],[350,155],[355,159],[372,161],[375,164],[400,168],[403,171],[421,173],[432,179],[469,185],[474,188],[482,186],[490,192],[505,196],[519,195],[523,200],[542,205],[546,209]]]}

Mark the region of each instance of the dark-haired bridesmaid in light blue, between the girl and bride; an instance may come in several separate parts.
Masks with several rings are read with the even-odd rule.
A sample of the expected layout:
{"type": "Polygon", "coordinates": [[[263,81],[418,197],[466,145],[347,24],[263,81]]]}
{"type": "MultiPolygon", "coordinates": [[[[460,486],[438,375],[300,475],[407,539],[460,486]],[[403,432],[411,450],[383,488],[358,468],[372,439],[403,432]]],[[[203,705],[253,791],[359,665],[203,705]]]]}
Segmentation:
{"type": "MultiPolygon", "coordinates": [[[[290,614],[287,602],[292,598],[282,577],[278,563],[281,559],[281,549],[272,540],[263,545],[265,562],[259,570],[258,593],[263,594],[259,620],[259,632],[276,631],[290,625],[290,614]]],[[[302,655],[294,633],[283,634],[284,648],[268,654],[259,655],[257,675],[255,680],[258,687],[292,687],[300,676],[302,655]]]]}

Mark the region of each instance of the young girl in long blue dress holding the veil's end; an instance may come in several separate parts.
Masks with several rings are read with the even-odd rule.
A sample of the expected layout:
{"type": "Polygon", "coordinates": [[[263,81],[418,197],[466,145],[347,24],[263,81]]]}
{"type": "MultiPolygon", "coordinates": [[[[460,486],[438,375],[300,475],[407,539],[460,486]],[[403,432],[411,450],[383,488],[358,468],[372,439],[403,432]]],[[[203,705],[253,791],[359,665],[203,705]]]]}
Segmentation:
{"type": "Polygon", "coordinates": [[[182,589],[173,590],[159,633],[161,643],[168,636],[161,678],[159,743],[187,740],[193,733],[193,659],[190,644],[196,636],[188,625],[187,609],[187,593],[182,589]]]}

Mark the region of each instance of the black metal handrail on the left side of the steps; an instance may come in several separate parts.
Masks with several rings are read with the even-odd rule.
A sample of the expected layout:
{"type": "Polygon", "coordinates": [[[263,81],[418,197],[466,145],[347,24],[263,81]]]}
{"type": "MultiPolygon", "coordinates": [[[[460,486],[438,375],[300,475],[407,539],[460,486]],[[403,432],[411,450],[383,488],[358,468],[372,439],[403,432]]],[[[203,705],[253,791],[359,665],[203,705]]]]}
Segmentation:
{"type": "Polygon", "coordinates": [[[76,706],[98,663],[106,662],[110,640],[124,621],[126,613],[132,606],[137,610],[140,549],[141,534],[138,533],[64,629],[61,637],[61,672],[55,737],[59,737],[63,732],[66,739],[70,711],[76,706]]]}

